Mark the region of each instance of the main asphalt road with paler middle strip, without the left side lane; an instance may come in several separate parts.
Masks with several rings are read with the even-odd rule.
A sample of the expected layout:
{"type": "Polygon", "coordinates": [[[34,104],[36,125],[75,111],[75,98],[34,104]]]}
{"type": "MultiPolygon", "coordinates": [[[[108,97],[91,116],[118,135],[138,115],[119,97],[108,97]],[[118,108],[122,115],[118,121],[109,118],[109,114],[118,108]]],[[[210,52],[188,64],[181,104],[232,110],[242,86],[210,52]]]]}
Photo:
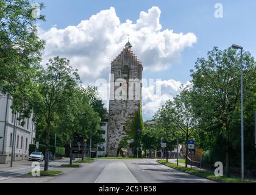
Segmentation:
{"type": "Polygon", "coordinates": [[[211,180],[160,165],[155,160],[96,160],[48,182],[86,183],[200,183],[211,180]]]}

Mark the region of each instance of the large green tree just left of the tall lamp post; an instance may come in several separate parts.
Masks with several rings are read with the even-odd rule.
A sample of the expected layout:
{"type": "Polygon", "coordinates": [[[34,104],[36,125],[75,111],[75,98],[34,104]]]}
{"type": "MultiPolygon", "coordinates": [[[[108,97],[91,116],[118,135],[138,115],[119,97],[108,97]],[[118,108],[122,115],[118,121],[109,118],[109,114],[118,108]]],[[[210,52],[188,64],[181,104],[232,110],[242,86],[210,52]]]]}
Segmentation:
{"type": "MultiPolygon", "coordinates": [[[[242,62],[244,74],[255,66],[254,59],[248,52],[244,52],[242,62]]],[[[199,119],[199,127],[207,130],[207,137],[215,134],[210,130],[213,127],[219,130],[218,135],[225,135],[226,176],[230,176],[230,131],[240,101],[241,68],[240,54],[236,51],[231,48],[224,51],[213,48],[208,52],[206,59],[197,59],[195,69],[191,70],[191,102],[199,119]]]]}

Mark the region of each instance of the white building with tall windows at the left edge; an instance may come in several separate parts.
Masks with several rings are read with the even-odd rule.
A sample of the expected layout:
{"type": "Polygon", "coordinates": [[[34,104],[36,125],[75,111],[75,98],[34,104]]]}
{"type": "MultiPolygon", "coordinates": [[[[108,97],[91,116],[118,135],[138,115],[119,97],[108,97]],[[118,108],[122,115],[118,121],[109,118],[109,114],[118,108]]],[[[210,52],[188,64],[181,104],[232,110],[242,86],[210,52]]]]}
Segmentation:
{"type": "Polygon", "coordinates": [[[0,164],[9,163],[12,154],[12,142],[14,136],[15,155],[13,160],[25,160],[29,158],[29,144],[35,143],[35,123],[32,116],[27,119],[17,120],[20,113],[12,113],[12,99],[0,94],[0,164]],[[13,127],[15,124],[15,135],[13,127]],[[24,125],[22,126],[22,121],[24,125]]]}

